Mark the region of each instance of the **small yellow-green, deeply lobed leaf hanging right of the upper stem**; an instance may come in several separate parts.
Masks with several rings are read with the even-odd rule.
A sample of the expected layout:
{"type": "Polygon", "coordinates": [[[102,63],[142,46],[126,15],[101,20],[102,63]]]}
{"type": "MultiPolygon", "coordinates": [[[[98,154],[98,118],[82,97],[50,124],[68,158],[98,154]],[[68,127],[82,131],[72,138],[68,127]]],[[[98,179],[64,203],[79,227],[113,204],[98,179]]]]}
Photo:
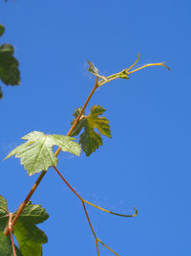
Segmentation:
{"type": "MultiPolygon", "coordinates": [[[[74,117],[77,117],[76,111],[79,108],[75,109],[74,117]]],[[[80,133],[81,129],[84,128],[84,131],[80,135],[79,144],[81,144],[82,150],[89,156],[92,152],[96,151],[99,146],[102,145],[102,138],[100,134],[95,131],[95,128],[98,131],[111,138],[111,130],[109,126],[109,121],[105,117],[98,117],[105,112],[105,109],[100,105],[94,105],[88,116],[83,115],[81,120],[77,124],[76,128],[74,128],[74,132],[72,136],[76,136],[80,133]]],[[[72,122],[72,124],[74,121],[72,122]]]]}

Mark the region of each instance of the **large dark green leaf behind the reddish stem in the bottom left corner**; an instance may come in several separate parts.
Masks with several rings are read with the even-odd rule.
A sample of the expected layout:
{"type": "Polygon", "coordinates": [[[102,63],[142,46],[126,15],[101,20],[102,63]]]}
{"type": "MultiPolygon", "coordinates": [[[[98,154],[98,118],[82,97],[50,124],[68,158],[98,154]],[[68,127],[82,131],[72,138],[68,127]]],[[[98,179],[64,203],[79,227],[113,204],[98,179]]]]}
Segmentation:
{"type": "MultiPolygon", "coordinates": [[[[15,214],[16,212],[13,214],[12,218],[14,218],[15,214]]],[[[36,224],[46,221],[48,218],[49,215],[41,205],[32,204],[31,201],[27,203],[12,230],[20,250],[18,251],[16,248],[18,251],[17,256],[42,255],[42,244],[47,243],[47,236],[42,230],[37,228],[36,224]]],[[[10,252],[10,238],[5,237],[3,233],[8,223],[9,210],[7,201],[5,198],[0,196],[0,256],[12,256],[10,252]],[[5,251],[2,250],[2,246],[5,246],[5,251]],[[8,251],[10,254],[1,254],[2,251],[8,251]]]]}

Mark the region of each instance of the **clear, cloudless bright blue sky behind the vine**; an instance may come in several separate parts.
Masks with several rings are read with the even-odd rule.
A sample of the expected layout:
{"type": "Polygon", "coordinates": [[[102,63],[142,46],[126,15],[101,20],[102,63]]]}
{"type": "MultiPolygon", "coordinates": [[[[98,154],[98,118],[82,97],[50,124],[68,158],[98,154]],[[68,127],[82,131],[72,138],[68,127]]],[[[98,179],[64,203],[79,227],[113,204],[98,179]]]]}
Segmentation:
{"type": "MultiPolygon", "coordinates": [[[[102,207],[138,217],[123,219],[88,207],[96,234],[120,256],[190,256],[191,77],[190,9],[182,0],[24,1],[0,3],[0,23],[19,59],[21,85],[2,85],[0,154],[3,159],[33,130],[66,134],[76,106],[94,78],[130,66],[166,61],[129,81],[102,86],[91,105],[107,108],[112,139],[86,157],[59,155],[58,169],[76,191],[102,207]]],[[[19,160],[0,163],[0,194],[11,211],[30,191],[19,160]]],[[[96,256],[80,201],[49,170],[32,197],[50,219],[45,256],[96,256]]],[[[113,255],[100,246],[100,256],[113,255]]]]}

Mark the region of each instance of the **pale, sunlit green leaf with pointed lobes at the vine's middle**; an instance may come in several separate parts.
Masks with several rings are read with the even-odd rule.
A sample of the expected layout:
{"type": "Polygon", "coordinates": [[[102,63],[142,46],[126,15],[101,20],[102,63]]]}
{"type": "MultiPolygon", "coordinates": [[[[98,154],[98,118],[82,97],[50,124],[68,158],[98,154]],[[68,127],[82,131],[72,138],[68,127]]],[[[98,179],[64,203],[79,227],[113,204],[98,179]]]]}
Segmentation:
{"type": "Polygon", "coordinates": [[[57,165],[57,157],[53,153],[53,145],[60,147],[62,151],[68,151],[75,155],[80,155],[80,146],[69,136],[64,135],[45,135],[41,131],[32,131],[22,139],[28,140],[11,151],[9,158],[15,154],[16,158],[21,158],[21,164],[24,165],[29,175],[47,171],[51,166],[57,165]]]}

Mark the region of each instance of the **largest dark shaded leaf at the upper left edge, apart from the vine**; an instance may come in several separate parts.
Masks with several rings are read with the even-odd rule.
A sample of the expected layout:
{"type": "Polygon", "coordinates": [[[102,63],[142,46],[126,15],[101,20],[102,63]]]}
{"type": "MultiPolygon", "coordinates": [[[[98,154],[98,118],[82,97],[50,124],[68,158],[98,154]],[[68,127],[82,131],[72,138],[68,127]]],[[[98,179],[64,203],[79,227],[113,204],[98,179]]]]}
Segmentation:
{"type": "Polygon", "coordinates": [[[7,85],[20,83],[18,60],[12,56],[13,53],[11,44],[0,45],[0,79],[7,85]]]}

